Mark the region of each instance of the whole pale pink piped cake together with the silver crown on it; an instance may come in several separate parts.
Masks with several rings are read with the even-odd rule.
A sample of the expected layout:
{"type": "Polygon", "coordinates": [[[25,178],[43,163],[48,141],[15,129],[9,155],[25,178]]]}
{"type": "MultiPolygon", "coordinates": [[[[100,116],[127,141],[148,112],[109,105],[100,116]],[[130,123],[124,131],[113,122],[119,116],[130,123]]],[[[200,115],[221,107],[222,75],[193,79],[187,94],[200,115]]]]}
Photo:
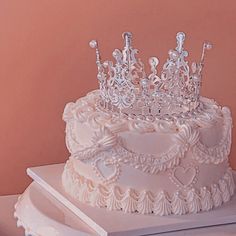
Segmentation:
{"type": "Polygon", "coordinates": [[[140,75],[131,34],[124,39],[124,50],[113,53],[114,66],[101,62],[92,41],[100,89],[65,108],[71,153],[62,175],[65,191],[125,213],[182,215],[221,206],[235,189],[228,163],[232,119],[229,108],[199,95],[210,44],[190,73],[184,34],[177,34],[158,77],[154,57],[152,73],[140,75]]]}

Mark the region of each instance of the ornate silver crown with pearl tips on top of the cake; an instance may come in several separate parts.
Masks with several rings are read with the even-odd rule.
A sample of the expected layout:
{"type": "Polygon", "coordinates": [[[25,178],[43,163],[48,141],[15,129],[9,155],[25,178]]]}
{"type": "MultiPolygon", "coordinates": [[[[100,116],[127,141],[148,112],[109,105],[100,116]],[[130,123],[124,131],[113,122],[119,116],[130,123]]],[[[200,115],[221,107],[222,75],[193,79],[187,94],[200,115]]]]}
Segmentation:
{"type": "Polygon", "coordinates": [[[113,51],[114,63],[102,62],[98,42],[89,43],[96,50],[100,109],[153,119],[185,116],[199,107],[204,57],[206,50],[212,48],[211,43],[204,42],[200,62],[193,62],[190,69],[188,52],[183,47],[185,34],[177,33],[177,46],[169,50],[158,75],[158,58],[149,58],[151,72],[147,74],[142,61],[136,58],[138,50],[132,47],[132,34],[125,32],[122,36],[124,48],[113,51]]]}

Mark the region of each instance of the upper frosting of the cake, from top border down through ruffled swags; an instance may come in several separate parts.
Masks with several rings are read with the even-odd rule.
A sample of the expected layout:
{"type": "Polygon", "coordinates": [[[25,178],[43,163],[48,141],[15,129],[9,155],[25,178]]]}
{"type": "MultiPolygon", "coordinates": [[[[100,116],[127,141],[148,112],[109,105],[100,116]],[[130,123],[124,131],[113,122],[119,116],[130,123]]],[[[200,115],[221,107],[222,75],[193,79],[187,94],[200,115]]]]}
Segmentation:
{"type": "MultiPolygon", "coordinates": [[[[82,99],[81,103],[84,104],[85,101],[86,98],[82,99]]],[[[227,108],[222,109],[221,117],[217,106],[200,113],[198,125],[203,114],[206,113],[210,118],[208,126],[199,129],[193,124],[193,119],[185,120],[184,123],[181,119],[175,123],[172,121],[168,123],[166,121],[125,120],[122,117],[95,111],[94,105],[90,104],[90,106],[84,111],[84,106],[78,100],[74,105],[67,106],[64,113],[64,119],[68,123],[66,129],[68,149],[75,158],[80,160],[94,159],[98,153],[115,147],[120,162],[130,164],[147,173],[157,174],[159,171],[178,165],[180,159],[189,150],[193,153],[192,158],[199,163],[219,164],[228,158],[232,121],[227,108]],[[78,126],[77,119],[78,113],[81,115],[83,112],[87,116],[87,119],[83,120],[85,129],[81,125],[78,126]],[[75,118],[71,118],[71,113],[75,118]],[[213,127],[216,123],[219,127],[217,133],[215,133],[215,128],[209,128],[209,125],[213,127]],[[220,125],[221,123],[222,125],[220,125]],[[164,128],[167,127],[166,129],[163,128],[163,124],[165,124],[164,128]],[[162,128],[160,129],[160,127],[162,128]],[[214,135],[211,135],[212,132],[214,135]],[[148,133],[150,133],[149,136],[148,133]],[[214,138],[215,136],[220,137],[221,133],[219,140],[214,138]],[[78,138],[76,138],[77,134],[79,134],[78,138]],[[205,136],[209,135],[211,138],[206,139],[205,136]],[[119,141],[119,137],[121,141],[119,141]],[[203,143],[203,140],[213,145],[209,147],[208,144],[203,143]]]]}

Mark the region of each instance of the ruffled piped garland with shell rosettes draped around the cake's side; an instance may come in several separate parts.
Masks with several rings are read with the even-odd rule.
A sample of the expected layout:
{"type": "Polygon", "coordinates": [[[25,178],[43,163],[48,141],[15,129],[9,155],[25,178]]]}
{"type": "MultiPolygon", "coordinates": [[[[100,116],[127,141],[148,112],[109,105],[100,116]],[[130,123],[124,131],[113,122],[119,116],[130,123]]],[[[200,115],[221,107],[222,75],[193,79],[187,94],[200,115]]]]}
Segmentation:
{"type": "MultiPolygon", "coordinates": [[[[224,107],[222,109],[222,113],[224,116],[223,137],[219,144],[215,145],[214,147],[207,147],[202,144],[199,140],[199,131],[186,124],[178,125],[179,132],[173,135],[173,137],[176,139],[176,144],[174,144],[166,153],[160,155],[135,153],[126,149],[120,142],[118,142],[118,140],[115,139],[116,135],[111,131],[106,131],[108,134],[104,133],[104,130],[110,129],[107,127],[104,128],[104,126],[97,130],[98,135],[97,137],[93,138],[93,144],[91,146],[82,147],[80,145],[79,147],[79,143],[74,137],[74,131],[70,122],[67,124],[68,126],[66,128],[66,132],[70,133],[71,135],[67,136],[66,144],[71,153],[73,153],[72,147],[74,145],[77,145],[77,147],[80,148],[80,150],[73,153],[72,155],[74,158],[80,159],[82,161],[93,160],[93,162],[95,162],[94,159],[98,155],[103,156],[104,149],[106,149],[106,151],[111,153],[113,156],[119,157],[119,163],[128,164],[149,174],[157,174],[160,171],[165,171],[169,168],[177,166],[180,162],[180,159],[184,157],[186,151],[189,149],[191,149],[193,152],[191,157],[199,163],[219,164],[227,160],[231,146],[232,120],[230,111],[228,108],[224,107]],[[102,134],[105,134],[104,137],[102,134]],[[108,143],[109,145],[105,145],[106,138],[107,140],[112,140],[112,142],[108,143]],[[105,139],[105,141],[102,142],[102,139],[105,139]],[[100,147],[97,145],[99,142],[101,142],[100,147]]],[[[89,115],[88,117],[90,118],[89,115]]],[[[70,119],[67,121],[70,121],[70,119]]],[[[99,127],[99,123],[97,124],[99,127]]],[[[96,174],[99,178],[102,178],[102,175],[99,173],[99,171],[96,170],[96,174]]],[[[110,180],[108,180],[108,182],[112,183],[110,180]]]]}

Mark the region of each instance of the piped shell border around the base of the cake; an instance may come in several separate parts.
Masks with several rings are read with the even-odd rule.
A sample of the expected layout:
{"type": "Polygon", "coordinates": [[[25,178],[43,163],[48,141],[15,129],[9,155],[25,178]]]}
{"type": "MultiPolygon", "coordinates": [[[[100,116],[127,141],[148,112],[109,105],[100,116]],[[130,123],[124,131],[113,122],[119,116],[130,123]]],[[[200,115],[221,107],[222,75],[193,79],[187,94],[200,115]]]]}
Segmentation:
{"type": "Polygon", "coordinates": [[[94,207],[125,213],[183,215],[209,211],[228,202],[235,191],[232,169],[227,167],[220,179],[207,186],[191,187],[169,193],[140,190],[118,183],[105,185],[83,176],[67,161],[62,175],[65,191],[74,199],[94,207]]]}

